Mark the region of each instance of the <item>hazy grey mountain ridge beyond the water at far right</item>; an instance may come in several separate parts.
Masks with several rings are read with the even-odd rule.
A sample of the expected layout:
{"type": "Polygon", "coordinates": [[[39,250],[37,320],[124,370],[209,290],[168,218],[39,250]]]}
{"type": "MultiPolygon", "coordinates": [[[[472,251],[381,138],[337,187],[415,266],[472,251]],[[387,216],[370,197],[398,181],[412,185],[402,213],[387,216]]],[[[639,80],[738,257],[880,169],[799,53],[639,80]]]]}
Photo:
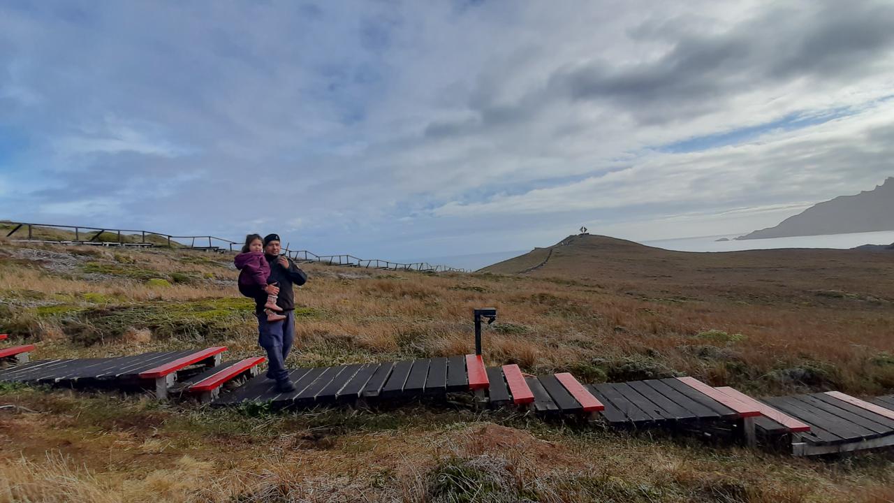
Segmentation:
{"type": "Polygon", "coordinates": [[[894,176],[872,191],[839,196],[805,209],[778,226],[767,227],[737,240],[797,235],[848,234],[894,230],[894,176]]]}

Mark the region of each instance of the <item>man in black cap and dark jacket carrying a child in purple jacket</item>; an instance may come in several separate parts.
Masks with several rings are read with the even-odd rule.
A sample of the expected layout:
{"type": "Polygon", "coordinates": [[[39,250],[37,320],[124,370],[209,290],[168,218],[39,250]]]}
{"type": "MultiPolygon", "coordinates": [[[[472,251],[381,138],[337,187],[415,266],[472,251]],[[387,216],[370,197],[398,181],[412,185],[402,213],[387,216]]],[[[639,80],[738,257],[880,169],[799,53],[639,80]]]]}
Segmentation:
{"type": "Polygon", "coordinates": [[[264,306],[255,307],[257,316],[257,344],[267,352],[267,378],[276,380],[276,389],[281,393],[295,390],[285,370],[285,359],[289,356],[295,338],[295,295],[292,285],[304,285],[308,275],[291,259],[280,255],[280,239],[277,234],[267,234],[264,238],[264,256],[270,264],[270,277],[265,288],[267,294],[276,295],[276,305],[283,308],[285,320],[267,321],[264,306]]]}

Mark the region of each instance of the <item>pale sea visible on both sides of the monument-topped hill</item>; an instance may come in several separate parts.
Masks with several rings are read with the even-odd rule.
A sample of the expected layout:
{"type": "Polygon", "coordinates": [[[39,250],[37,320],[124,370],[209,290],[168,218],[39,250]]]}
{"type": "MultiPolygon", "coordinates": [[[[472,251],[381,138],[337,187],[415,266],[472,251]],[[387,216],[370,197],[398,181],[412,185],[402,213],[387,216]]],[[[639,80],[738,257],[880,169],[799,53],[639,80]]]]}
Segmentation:
{"type": "MultiPolygon", "coordinates": [[[[775,248],[834,248],[847,250],[863,244],[894,243],[894,231],[874,233],[850,233],[828,235],[802,235],[797,237],[774,237],[770,239],[749,239],[735,241],[733,238],[742,234],[705,235],[683,237],[677,239],[659,239],[638,241],[637,243],[664,250],[677,252],[738,252],[742,250],[771,250],[775,248]],[[730,241],[718,241],[728,239],[730,241]]],[[[477,270],[489,265],[523,255],[530,250],[514,250],[508,252],[474,253],[468,255],[452,255],[447,257],[430,257],[426,259],[401,260],[407,262],[428,262],[450,266],[453,268],[477,270]]],[[[894,257],[894,254],[892,254],[894,257]]]]}

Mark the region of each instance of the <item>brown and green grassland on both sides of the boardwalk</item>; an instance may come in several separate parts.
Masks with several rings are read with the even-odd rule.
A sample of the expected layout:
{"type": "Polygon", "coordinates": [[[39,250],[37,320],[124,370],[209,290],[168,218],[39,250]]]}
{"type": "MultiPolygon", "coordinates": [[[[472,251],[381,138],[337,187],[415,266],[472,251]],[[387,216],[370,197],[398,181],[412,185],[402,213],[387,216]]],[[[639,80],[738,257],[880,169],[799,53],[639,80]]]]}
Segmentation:
{"type": "MultiPolygon", "coordinates": [[[[570,279],[550,270],[572,247],[562,248],[524,276],[308,266],[290,363],[468,352],[471,309],[486,304],[500,311],[485,334],[487,358],[526,371],[571,370],[590,380],[687,373],[758,394],[894,387],[894,342],[884,337],[890,282],[844,277],[890,274],[865,256],[817,264],[802,255],[790,260],[809,270],[792,273],[747,254],[704,256],[702,266],[692,266],[690,254],[649,250],[634,260],[631,253],[643,252],[634,246],[612,260],[603,250],[602,265],[590,262],[590,272],[570,279]],[[757,280],[763,277],[772,281],[757,280]]],[[[236,292],[229,260],[0,243],[0,332],[36,343],[37,357],[203,344],[257,354],[249,304],[236,292]]],[[[795,460],[464,406],[271,414],[8,386],[0,404],[23,407],[0,412],[0,503],[26,495],[462,501],[476,491],[475,500],[491,501],[894,498],[890,456],[795,460]]]]}

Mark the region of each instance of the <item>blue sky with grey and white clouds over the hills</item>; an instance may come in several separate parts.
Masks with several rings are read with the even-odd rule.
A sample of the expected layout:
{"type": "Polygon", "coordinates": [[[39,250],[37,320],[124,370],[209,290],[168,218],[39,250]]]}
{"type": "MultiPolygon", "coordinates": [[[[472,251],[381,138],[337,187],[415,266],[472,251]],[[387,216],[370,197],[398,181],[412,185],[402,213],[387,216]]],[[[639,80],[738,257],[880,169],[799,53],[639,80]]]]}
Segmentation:
{"type": "Polygon", "coordinates": [[[894,175],[890,1],[0,0],[0,218],[362,258],[745,234],[894,175]]]}

